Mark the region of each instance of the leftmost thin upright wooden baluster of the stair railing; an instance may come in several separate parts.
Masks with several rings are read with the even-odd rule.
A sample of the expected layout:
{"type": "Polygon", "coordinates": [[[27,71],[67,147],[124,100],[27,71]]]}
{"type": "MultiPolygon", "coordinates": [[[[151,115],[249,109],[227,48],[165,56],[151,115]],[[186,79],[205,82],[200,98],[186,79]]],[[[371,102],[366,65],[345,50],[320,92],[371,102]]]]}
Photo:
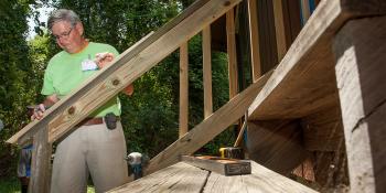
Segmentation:
{"type": "Polygon", "coordinates": [[[189,61],[187,61],[187,42],[180,46],[180,138],[187,132],[189,116],[189,61]]]}

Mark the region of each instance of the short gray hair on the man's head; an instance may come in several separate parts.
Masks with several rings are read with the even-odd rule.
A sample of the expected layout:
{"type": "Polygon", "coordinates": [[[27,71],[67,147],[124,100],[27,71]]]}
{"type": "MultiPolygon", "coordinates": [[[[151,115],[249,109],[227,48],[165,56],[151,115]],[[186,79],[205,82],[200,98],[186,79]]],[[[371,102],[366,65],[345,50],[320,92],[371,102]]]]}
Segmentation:
{"type": "Polygon", "coordinates": [[[55,22],[67,21],[72,26],[75,26],[77,22],[81,22],[79,17],[73,11],[67,9],[58,9],[51,13],[47,20],[49,30],[52,30],[52,26],[55,22]]]}

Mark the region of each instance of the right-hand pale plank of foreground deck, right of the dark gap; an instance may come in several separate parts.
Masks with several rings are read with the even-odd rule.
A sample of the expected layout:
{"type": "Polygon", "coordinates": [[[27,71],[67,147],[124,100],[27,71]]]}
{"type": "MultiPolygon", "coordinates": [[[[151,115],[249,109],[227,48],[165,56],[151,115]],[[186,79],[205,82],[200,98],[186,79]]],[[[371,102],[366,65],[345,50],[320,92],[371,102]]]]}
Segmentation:
{"type": "Polygon", "coordinates": [[[305,193],[315,192],[300,183],[270,171],[251,161],[250,175],[224,176],[211,173],[204,193],[238,193],[238,192],[264,192],[264,193],[305,193]]]}

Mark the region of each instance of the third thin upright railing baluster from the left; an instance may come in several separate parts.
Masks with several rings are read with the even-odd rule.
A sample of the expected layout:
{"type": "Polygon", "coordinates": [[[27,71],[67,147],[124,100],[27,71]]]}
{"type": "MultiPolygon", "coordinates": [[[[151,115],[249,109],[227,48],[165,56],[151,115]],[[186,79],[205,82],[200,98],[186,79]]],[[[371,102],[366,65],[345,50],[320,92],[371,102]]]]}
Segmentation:
{"type": "Polygon", "coordinates": [[[234,10],[230,9],[226,13],[226,45],[228,52],[229,99],[232,99],[238,93],[235,33],[235,13],[234,10]]]}

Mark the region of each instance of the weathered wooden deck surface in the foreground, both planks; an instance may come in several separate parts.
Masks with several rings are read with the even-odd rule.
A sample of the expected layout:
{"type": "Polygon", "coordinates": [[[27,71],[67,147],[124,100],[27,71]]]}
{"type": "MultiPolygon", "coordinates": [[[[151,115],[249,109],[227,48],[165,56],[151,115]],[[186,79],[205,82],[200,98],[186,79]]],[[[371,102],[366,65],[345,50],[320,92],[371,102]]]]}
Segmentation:
{"type": "Polygon", "coordinates": [[[251,174],[225,176],[184,162],[109,191],[121,192],[315,192],[251,161],[251,174]]]}

